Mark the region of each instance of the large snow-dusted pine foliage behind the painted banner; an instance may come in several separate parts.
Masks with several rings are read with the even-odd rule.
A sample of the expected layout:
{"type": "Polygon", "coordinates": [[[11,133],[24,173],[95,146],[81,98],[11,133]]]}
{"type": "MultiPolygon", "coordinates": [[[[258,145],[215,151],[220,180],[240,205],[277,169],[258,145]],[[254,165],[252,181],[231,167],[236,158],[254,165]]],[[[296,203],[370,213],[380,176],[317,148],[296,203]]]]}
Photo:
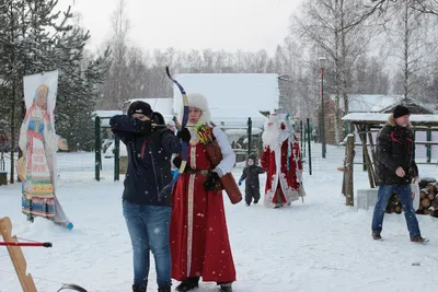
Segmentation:
{"type": "MultiPolygon", "coordinates": [[[[90,138],[82,132],[92,122],[95,85],[105,78],[110,54],[106,50],[84,66],[84,46],[90,36],[69,24],[70,9],[55,13],[56,5],[56,0],[0,0],[0,114],[9,122],[8,133],[15,150],[25,113],[23,77],[50,70],[59,70],[57,130],[70,138],[71,149],[90,149],[90,138]],[[81,135],[73,138],[70,132],[81,135]]],[[[14,160],[12,150],[11,183],[14,160]]]]}

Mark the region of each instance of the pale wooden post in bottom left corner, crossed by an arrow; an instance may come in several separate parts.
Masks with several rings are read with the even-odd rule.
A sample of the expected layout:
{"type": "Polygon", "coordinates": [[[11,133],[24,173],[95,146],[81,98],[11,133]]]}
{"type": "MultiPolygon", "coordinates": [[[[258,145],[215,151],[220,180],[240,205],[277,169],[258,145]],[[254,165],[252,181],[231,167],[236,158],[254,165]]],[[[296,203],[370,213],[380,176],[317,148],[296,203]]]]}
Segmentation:
{"type": "MultiPolygon", "coordinates": [[[[5,217],[0,219],[0,233],[3,236],[4,242],[18,243],[16,236],[11,236],[12,223],[11,220],[5,217]]],[[[26,260],[23,255],[21,246],[7,246],[9,256],[11,257],[12,264],[15,268],[16,276],[19,277],[23,292],[37,292],[34,280],[31,273],[26,273],[26,260]]]]}

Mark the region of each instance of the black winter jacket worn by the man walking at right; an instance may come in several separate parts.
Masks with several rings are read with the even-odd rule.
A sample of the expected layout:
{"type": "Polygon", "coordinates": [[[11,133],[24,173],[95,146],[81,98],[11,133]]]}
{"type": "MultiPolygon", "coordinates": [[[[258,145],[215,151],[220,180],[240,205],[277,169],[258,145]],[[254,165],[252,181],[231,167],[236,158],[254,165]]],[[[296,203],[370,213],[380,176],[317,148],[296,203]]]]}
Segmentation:
{"type": "Polygon", "coordinates": [[[410,126],[405,128],[396,125],[392,115],[377,137],[376,174],[383,185],[407,185],[418,175],[414,133],[410,126]],[[400,166],[406,173],[404,177],[395,174],[400,166]]]}

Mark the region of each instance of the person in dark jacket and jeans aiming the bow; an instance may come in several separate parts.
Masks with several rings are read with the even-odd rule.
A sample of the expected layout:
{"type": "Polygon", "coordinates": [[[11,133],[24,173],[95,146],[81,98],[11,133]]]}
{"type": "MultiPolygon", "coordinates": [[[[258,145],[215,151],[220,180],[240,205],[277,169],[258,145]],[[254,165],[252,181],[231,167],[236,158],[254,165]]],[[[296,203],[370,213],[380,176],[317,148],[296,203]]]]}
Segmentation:
{"type": "Polygon", "coordinates": [[[160,192],[172,182],[172,153],[178,153],[180,139],[188,142],[191,135],[183,129],[174,136],[164,125],[155,125],[159,118],[149,104],[135,102],[127,115],[110,120],[113,132],[128,152],[123,213],[132,244],[134,292],[147,290],[150,250],[155,260],[158,291],[170,292],[172,284],[169,246],[172,198],[160,192]]]}

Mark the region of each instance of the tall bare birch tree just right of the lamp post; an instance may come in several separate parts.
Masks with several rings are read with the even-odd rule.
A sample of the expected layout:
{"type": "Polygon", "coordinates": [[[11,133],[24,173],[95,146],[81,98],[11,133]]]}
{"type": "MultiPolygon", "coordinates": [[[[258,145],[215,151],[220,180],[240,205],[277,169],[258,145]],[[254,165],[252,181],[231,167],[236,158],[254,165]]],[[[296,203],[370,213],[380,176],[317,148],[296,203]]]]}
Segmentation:
{"type": "Polygon", "coordinates": [[[295,16],[292,33],[298,33],[304,42],[315,44],[320,54],[326,55],[333,66],[335,141],[339,143],[339,100],[343,98],[347,114],[350,68],[366,51],[371,39],[369,31],[365,30],[364,3],[361,0],[310,0],[302,5],[302,10],[301,16],[295,16]]]}

